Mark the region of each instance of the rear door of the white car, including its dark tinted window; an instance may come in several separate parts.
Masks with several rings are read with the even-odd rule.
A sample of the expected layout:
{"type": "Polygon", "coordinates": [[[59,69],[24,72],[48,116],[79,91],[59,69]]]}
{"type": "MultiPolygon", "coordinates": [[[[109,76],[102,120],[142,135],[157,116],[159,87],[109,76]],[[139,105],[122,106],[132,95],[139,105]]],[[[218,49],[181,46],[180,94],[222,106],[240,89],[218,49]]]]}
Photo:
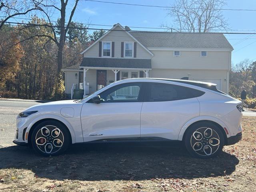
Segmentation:
{"type": "Polygon", "coordinates": [[[185,122],[199,116],[204,92],[168,83],[147,83],[141,110],[141,140],[177,140],[185,122]]]}

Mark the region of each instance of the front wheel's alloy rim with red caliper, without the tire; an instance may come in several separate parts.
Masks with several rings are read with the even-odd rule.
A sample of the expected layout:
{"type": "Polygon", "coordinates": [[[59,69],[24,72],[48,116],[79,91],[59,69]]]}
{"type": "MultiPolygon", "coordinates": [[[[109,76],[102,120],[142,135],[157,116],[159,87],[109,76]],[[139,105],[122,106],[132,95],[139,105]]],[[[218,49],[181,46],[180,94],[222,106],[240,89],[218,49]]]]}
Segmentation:
{"type": "Polygon", "coordinates": [[[43,126],[36,133],[36,146],[46,154],[58,152],[64,143],[62,131],[53,125],[43,126]]]}

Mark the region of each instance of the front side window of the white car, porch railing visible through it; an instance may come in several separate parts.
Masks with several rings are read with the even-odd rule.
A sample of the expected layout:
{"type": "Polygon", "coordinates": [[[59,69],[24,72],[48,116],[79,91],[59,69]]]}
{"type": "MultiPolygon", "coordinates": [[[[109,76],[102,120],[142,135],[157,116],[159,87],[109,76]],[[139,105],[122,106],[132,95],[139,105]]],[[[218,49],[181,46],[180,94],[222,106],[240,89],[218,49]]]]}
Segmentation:
{"type": "Polygon", "coordinates": [[[100,94],[102,102],[138,102],[142,83],[125,83],[100,94]]]}

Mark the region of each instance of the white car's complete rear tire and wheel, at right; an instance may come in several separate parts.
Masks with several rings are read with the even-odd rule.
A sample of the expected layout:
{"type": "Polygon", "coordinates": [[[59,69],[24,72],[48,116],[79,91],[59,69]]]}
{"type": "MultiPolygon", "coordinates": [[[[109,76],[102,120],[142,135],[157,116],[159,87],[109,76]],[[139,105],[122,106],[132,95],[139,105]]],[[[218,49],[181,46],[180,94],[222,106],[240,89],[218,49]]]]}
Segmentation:
{"type": "Polygon", "coordinates": [[[184,137],[186,149],[196,158],[217,156],[222,151],[224,142],[224,135],[220,128],[210,122],[192,125],[184,137]]]}

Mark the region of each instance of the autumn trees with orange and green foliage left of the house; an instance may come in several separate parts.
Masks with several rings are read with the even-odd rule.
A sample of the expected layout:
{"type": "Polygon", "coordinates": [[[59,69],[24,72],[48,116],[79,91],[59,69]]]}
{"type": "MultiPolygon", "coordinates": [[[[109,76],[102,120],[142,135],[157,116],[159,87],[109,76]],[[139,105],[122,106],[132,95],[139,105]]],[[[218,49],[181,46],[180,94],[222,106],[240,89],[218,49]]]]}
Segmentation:
{"type": "MultiPolygon", "coordinates": [[[[39,100],[64,99],[64,73],[57,72],[58,47],[45,20],[33,16],[30,24],[4,25],[0,30],[0,96],[39,100]],[[45,35],[45,36],[44,36],[45,35]]],[[[56,23],[58,25],[58,23],[56,23]]],[[[72,22],[72,26],[82,24],[72,22]]],[[[98,37],[102,33],[96,33],[98,37]]],[[[78,64],[80,52],[91,43],[86,29],[70,30],[63,49],[63,68],[78,64]]],[[[94,36],[95,38],[98,38],[94,36]]],[[[57,36],[58,38],[58,36],[57,36]]]]}

